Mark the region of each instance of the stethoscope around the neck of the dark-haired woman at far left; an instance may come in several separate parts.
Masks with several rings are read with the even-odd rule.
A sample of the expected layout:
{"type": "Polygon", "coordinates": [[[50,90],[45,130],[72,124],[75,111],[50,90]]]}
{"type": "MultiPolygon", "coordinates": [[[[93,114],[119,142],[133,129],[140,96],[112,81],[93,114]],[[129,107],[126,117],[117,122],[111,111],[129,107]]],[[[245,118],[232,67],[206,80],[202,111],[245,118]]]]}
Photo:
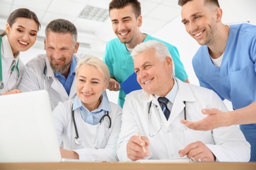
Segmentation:
{"type": "MultiPolygon", "coordinates": [[[[2,46],[2,37],[3,36],[0,36],[0,89],[3,89],[5,88],[5,84],[3,83],[3,66],[2,66],[2,53],[1,53],[1,46],[2,46]]],[[[14,71],[14,69],[17,70],[17,73],[18,73],[18,78],[20,78],[20,70],[18,69],[18,62],[20,61],[20,58],[18,58],[18,61],[16,63],[16,65],[12,65],[11,67],[11,71],[10,71],[10,74],[9,74],[9,78],[7,80],[7,87],[9,86],[9,81],[10,81],[10,78],[11,78],[11,75],[12,75],[12,72],[14,71]]],[[[18,78],[16,79],[16,84],[14,85],[14,87],[17,85],[18,83],[18,78]]]]}

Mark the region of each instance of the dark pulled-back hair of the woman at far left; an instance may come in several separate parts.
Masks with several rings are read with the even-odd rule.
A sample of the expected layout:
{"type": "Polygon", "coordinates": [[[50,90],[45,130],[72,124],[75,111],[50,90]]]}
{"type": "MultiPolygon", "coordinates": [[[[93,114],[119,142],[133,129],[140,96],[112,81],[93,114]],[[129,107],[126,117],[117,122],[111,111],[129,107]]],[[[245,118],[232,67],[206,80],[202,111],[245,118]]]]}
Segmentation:
{"type": "MultiPolygon", "coordinates": [[[[41,24],[37,18],[37,15],[35,14],[35,12],[33,12],[29,9],[16,9],[16,10],[12,11],[7,19],[7,23],[9,23],[10,27],[12,27],[12,25],[16,22],[17,18],[32,19],[37,23],[38,29],[39,29],[39,27],[41,27],[41,24]]],[[[0,34],[0,36],[3,36],[3,35],[6,35],[6,31],[4,31],[3,33],[0,34]]]]}

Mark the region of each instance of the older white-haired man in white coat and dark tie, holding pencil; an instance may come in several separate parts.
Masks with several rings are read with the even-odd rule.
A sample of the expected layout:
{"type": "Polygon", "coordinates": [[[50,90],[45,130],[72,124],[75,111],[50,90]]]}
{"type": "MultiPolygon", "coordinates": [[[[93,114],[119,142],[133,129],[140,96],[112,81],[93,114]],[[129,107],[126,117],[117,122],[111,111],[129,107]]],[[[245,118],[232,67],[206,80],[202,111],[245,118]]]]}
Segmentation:
{"type": "Polygon", "coordinates": [[[125,98],[117,141],[120,161],[249,161],[250,144],[238,126],[195,131],[181,124],[183,119],[202,120],[202,108],[227,108],[215,92],[174,78],[173,60],[164,44],[142,42],[131,56],[142,90],[125,98]]]}

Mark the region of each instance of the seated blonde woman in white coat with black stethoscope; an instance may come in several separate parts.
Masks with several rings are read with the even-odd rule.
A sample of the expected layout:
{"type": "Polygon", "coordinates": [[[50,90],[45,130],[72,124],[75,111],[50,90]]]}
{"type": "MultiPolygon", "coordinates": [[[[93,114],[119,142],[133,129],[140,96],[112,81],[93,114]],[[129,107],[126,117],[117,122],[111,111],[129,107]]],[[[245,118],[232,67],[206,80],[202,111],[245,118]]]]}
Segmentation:
{"type": "Polygon", "coordinates": [[[77,96],[53,110],[62,158],[117,161],[121,107],[102,95],[110,81],[108,67],[99,58],[83,58],[75,78],[77,96]]]}

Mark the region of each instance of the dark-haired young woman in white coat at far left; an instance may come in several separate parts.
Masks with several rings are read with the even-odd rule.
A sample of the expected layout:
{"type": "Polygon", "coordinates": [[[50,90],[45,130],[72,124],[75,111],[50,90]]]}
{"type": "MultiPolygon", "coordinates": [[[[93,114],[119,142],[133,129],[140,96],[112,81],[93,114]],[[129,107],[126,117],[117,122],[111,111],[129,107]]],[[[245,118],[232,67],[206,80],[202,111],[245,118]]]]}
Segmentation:
{"type": "Polygon", "coordinates": [[[40,23],[34,12],[28,9],[14,10],[0,34],[0,95],[20,93],[15,89],[24,71],[20,52],[28,50],[37,37],[40,23]]]}

